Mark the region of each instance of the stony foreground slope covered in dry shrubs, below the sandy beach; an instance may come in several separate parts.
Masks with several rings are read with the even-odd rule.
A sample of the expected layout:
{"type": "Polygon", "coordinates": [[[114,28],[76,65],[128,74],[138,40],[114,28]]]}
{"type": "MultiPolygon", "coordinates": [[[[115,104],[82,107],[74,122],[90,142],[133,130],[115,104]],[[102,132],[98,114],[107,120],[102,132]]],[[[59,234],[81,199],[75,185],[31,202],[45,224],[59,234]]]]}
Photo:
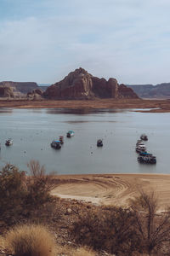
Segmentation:
{"type": "MultiPolygon", "coordinates": [[[[54,248],[55,255],[67,256],[102,255],[101,251],[116,256],[170,255],[170,211],[157,211],[154,193],[141,191],[128,208],[59,200],[50,195],[59,181],[47,175],[36,160],[31,160],[28,167],[30,176],[10,164],[0,172],[1,234],[20,223],[6,236],[14,255],[39,256],[31,252],[39,252],[43,246],[48,253],[40,253],[41,256],[54,255],[54,248]],[[48,230],[36,223],[51,227],[57,245],[50,233],[49,240],[46,235],[43,240],[41,236],[48,230]],[[22,254],[25,249],[30,254],[22,254]]],[[[1,241],[0,252],[3,238],[1,241]]]]}

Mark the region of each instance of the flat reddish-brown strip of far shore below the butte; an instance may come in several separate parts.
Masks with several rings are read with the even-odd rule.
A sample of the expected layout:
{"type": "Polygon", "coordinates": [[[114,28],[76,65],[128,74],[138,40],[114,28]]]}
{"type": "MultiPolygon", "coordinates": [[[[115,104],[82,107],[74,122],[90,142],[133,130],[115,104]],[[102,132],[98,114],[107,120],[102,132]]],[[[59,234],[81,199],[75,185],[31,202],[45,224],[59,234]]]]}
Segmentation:
{"type": "MultiPolygon", "coordinates": [[[[149,112],[170,112],[170,100],[148,99],[96,99],[84,101],[54,101],[54,100],[0,100],[0,108],[155,108],[149,112]]],[[[141,110],[139,110],[141,111],[141,110]]],[[[142,110],[142,112],[148,110],[142,110]]]]}

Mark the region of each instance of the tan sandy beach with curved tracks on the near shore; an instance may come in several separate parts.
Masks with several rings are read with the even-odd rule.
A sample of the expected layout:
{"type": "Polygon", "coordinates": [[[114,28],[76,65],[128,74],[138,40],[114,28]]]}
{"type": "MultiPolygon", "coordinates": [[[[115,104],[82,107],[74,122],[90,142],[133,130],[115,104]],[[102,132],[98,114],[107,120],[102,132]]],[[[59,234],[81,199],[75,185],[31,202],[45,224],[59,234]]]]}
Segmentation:
{"type": "Polygon", "coordinates": [[[95,174],[63,175],[53,195],[96,205],[127,207],[139,191],[154,191],[160,211],[170,207],[170,175],[163,174],[95,174]]]}

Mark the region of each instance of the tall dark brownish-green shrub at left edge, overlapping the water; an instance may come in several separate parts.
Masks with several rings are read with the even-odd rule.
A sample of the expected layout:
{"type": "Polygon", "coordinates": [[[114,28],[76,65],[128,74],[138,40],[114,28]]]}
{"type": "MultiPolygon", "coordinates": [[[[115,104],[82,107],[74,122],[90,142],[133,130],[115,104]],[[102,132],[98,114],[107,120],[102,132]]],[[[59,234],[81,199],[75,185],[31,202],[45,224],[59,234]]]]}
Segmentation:
{"type": "Polygon", "coordinates": [[[8,225],[22,218],[35,220],[40,212],[41,218],[49,219],[54,213],[54,197],[49,193],[56,186],[53,176],[47,175],[36,160],[31,160],[28,166],[31,176],[11,164],[0,172],[0,220],[8,225]]]}

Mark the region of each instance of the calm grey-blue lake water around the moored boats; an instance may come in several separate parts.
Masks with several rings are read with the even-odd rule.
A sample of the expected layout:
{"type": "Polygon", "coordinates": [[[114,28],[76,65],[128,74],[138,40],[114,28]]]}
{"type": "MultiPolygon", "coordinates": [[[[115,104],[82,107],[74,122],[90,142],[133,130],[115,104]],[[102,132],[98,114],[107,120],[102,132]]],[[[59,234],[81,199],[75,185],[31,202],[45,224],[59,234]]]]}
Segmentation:
{"type": "Polygon", "coordinates": [[[27,171],[26,163],[39,160],[48,172],[169,173],[170,113],[131,110],[12,109],[0,108],[0,167],[7,162],[27,171]],[[75,136],[66,137],[66,132],[75,136]],[[139,164],[135,144],[141,133],[149,137],[148,152],[156,165],[139,164]],[[64,136],[61,149],[50,147],[64,136]],[[5,146],[8,137],[14,144],[5,146]],[[103,148],[97,148],[102,138],[103,148]]]}

